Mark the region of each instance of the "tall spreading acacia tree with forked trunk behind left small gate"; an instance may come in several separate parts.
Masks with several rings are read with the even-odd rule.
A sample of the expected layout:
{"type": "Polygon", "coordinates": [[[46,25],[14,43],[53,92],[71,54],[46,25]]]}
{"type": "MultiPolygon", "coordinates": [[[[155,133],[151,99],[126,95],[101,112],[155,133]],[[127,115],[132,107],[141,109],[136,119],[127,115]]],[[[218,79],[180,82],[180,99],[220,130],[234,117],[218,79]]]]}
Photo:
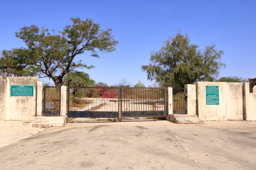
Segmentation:
{"type": "Polygon", "coordinates": [[[44,75],[54,81],[56,86],[63,84],[63,78],[77,68],[92,68],[75,61],[77,55],[88,51],[91,56],[99,57],[98,52],[113,52],[118,41],[114,40],[111,29],[102,30],[99,24],[92,20],[71,18],[72,25],[64,27],[63,31],[55,34],[46,28],[38,28],[36,25],[24,26],[15,32],[33,52],[33,66],[44,75]]]}

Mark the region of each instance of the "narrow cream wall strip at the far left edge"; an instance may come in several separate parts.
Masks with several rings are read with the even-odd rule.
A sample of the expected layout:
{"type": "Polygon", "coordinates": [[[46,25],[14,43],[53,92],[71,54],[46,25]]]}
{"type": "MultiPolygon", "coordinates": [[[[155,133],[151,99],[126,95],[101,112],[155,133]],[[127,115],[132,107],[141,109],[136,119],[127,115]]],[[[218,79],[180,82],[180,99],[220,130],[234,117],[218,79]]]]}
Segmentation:
{"type": "Polygon", "coordinates": [[[5,120],[6,107],[6,80],[0,77],[0,120],[5,120]]]}

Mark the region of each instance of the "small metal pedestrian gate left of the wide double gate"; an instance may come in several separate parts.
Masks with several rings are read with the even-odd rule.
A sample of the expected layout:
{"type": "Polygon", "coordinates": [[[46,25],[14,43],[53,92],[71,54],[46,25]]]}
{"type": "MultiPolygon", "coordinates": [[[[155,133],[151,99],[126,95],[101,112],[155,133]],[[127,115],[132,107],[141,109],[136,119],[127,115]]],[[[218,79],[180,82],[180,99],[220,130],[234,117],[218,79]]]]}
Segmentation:
{"type": "Polygon", "coordinates": [[[60,115],[60,87],[44,86],[43,115],[60,115]]]}

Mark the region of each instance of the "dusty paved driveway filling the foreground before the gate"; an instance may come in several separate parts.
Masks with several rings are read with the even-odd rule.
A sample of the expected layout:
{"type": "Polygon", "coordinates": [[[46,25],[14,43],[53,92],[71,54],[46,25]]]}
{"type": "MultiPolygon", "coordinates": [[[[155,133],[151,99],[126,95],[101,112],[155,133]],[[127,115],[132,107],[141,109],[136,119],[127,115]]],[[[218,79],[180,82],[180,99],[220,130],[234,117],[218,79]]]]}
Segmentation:
{"type": "Polygon", "coordinates": [[[0,170],[255,170],[256,122],[69,123],[0,149],[0,170]]]}

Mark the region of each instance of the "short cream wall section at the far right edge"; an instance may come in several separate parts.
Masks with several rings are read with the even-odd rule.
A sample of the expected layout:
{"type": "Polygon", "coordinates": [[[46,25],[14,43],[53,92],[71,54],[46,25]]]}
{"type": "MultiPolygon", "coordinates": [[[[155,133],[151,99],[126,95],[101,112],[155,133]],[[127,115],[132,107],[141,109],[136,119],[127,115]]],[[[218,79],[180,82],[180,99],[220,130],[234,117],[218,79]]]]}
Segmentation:
{"type": "MultiPolygon", "coordinates": [[[[250,92],[249,83],[245,82],[244,85],[244,110],[246,112],[245,120],[256,120],[256,92],[250,92]]],[[[255,86],[254,86],[255,87],[255,86]]]]}

